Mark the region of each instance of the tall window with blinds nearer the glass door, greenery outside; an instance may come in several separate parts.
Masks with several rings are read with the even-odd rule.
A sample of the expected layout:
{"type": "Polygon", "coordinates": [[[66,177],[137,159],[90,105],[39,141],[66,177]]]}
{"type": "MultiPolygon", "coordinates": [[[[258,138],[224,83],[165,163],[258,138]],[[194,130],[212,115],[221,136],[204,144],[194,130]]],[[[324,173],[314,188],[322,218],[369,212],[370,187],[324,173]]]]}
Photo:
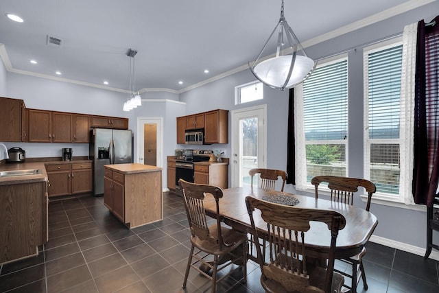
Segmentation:
{"type": "Polygon", "coordinates": [[[346,176],[348,60],[319,65],[303,82],[307,183],[313,176],[346,176]]]}

